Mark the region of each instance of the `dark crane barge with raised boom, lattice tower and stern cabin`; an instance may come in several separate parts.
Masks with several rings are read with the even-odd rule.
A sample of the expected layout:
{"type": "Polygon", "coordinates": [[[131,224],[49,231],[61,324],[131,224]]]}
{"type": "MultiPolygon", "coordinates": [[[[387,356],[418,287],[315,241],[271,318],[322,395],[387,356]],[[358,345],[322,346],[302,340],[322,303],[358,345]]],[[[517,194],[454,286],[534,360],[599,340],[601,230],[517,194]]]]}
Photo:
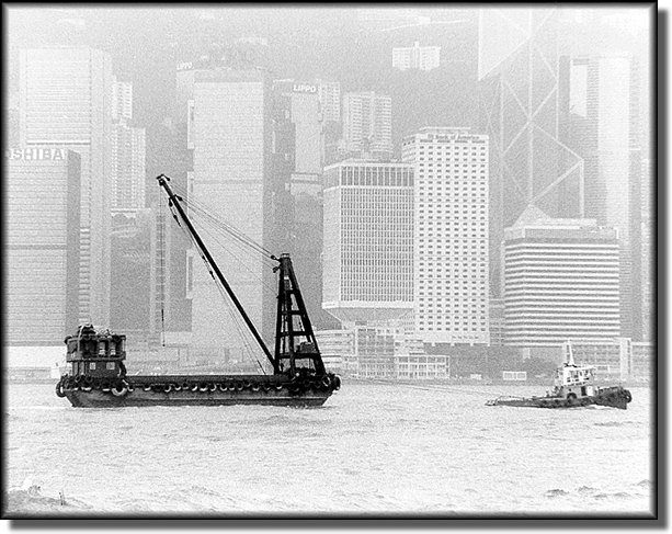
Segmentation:
{"type": "MultiPolygon", "coordinates": [[[[226,289],[247,327],[269,359],[272,374],[255,375],[128,375],[126,337],[82,325],[65,339],[71,374],[56,385],[56,395],[73,407],[105,408],[176,405],[321,406],[340,389],[341,378],[324,368],[289,254],[271,257],[278,264],[275,352],[272,355],[246,314],[209,251],[186,217],[183,198],[173,193],[170,178],[157,177],[184,223],[215,282],[226,289]]],[[[173,212],[173,216],[175,216],[173,212]]],[[[175,216],[178,223],[178,216],[175,216]]],[[[182,225],[180,225],[182,226],[182,225]]]]}

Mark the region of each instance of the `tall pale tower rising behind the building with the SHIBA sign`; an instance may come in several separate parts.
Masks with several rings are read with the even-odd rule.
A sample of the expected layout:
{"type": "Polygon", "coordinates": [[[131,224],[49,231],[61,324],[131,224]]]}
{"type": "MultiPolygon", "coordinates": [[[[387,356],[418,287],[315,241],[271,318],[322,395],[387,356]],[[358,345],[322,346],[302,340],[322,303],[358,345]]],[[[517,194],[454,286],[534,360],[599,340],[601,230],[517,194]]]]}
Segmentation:
{"type": "Polygon", "coordinates": [[[81,156],[79,320],[110,322],[112,60],[91,48],[23,49],[20,139],[81,156]]]}

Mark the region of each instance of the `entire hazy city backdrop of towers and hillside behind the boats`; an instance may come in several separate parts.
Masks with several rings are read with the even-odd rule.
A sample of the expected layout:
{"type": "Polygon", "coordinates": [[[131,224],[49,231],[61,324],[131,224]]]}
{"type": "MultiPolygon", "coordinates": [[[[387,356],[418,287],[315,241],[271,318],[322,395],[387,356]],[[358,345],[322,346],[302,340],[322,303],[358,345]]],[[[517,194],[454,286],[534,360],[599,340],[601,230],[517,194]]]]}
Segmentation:
{"type": "MultiPolygon", "coordinates": [[[[292,254],[341,372],[544,374],[571,340],[648,376],[647,9],[8,14],[11,345],[56,354],[93,322],[144,366],[258,365],[170,216],[166,173],[204,216],[292,254]],[[68,184],[48,209],[26,196],[46,194],[35,164],[68,184]]],[[[272,343],[270,266],[191,213],[272,343]]]]}

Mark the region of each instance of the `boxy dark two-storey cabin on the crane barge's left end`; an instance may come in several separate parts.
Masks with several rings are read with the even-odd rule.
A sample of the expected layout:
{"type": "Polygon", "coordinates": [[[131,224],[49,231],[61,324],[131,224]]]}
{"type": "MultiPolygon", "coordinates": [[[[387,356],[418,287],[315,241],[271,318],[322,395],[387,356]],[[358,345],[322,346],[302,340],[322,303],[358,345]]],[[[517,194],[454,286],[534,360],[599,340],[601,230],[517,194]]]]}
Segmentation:
{"type": "Polygon", "coordinates": [[[65,339],[66,362],[72,365],[72,376],[110,378],[124,376],[126,368],[126,336],[110,330],[96,332],[92,325],[83,325],[77,336],[65,339]]]}

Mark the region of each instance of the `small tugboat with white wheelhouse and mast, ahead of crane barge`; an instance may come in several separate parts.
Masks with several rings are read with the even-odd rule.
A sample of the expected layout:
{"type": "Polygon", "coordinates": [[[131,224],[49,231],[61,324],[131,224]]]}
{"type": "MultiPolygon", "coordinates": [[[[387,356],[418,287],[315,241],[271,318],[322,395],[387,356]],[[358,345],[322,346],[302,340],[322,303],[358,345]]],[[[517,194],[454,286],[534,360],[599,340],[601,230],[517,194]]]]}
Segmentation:
{"type": "Polygon", "coordinates": [[[554,389],[545,397],[501,396],[486,402],[487,406],[515,406],[527,408],[578,408],[599,405],[626,410],[633,395],[622,386],[597,387],[594,384],[594,367],[577,365],[567,344],[568,357],[562,367],[556,370],[554,389]]]}

